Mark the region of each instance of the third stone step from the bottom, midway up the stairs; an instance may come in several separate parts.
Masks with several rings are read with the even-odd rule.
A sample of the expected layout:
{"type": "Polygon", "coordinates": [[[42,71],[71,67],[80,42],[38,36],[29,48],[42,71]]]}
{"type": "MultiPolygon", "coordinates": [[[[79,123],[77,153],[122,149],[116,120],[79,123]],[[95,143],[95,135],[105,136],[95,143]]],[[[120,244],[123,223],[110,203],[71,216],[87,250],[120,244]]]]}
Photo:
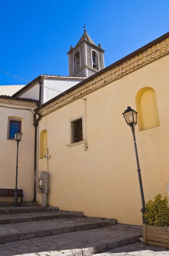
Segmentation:
{"type": "Polygon", "coordinates": [[[20,214],[0,215],[0,224],[13,224],[29,221],[52,220],[56,218],[83,217],[83,212],[53,211],[53,212],[27,212],[20,214]]]}

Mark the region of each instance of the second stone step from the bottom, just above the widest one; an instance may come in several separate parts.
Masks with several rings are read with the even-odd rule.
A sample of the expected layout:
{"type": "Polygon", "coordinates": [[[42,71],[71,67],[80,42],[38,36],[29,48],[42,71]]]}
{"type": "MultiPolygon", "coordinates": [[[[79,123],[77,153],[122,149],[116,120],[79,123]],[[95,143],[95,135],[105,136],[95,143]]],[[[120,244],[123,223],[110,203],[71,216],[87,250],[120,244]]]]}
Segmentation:
{"type": "Polygon", "coordinates": [[[0,244],[34,237],[107,227],[116,223],[117,220],[115,219],[82,217],[4,224],[0,225],[0,244]]]}

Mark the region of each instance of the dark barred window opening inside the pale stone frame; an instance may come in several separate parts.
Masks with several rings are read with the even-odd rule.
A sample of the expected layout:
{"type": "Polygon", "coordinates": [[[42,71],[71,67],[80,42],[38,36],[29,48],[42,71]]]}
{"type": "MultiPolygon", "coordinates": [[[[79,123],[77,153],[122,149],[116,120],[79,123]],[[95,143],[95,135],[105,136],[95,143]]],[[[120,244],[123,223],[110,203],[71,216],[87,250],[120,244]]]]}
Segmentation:
{"type": "Polygon", "coordinates": [[[76,143],[83,140],[82,118],[71,122],[71,143],[76,143]]]}

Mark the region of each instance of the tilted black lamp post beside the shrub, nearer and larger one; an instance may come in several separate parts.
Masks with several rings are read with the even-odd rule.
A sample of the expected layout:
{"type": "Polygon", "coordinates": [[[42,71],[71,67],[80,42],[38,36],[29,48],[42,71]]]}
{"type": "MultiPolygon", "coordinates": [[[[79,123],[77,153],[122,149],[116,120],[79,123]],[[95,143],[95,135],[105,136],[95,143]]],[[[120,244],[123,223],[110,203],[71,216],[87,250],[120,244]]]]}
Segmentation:
{"type": "Polygon", "coordinates": [[[140,169],[140,164],[138,160],[137,144],[135,140],[135,125],[137,125],[137,112],[134,111],[132,108],[127,107],[127,110],[125,110],[124,113],[122,114],[124,116],[124,119],[127,122],[127,125],[129,125],[132,129],[132,135],[133,135],[134,147],[135,147],[135,156],[137,161],[138,180],[140,184],[141,201],[142,201],[141,212],[143,214],[143,223],[145,223],[144,212],[146,211],[146,208],[145,208],[145,200],[144,200],[144,191],[143,191],[143,184],[141,179],[141,169],[140,169]]]}

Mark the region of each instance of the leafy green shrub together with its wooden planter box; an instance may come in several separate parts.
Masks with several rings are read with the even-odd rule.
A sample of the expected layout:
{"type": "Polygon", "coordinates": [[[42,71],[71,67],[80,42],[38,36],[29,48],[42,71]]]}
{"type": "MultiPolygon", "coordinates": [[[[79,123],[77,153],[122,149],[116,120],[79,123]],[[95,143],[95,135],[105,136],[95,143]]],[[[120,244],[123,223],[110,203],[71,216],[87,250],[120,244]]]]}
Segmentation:
{"type": "Polygon", "coordinates": [[[154,201],[146,203],[144,213],[146,224],[143,224],[144,244],[169,248],[169,207],[168,198],[162,199],[161,194],[154,201]]]}

